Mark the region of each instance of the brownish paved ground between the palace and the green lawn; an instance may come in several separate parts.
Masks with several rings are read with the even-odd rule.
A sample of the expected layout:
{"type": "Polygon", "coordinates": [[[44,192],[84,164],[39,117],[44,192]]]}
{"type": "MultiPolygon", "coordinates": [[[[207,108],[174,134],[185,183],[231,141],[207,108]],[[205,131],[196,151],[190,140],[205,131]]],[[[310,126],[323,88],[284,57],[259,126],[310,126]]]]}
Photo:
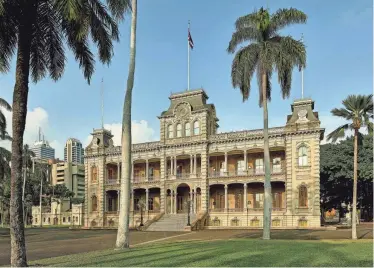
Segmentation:
{"type": "MultiPolygon", "coordinates": [[[[273,239],[349,239],[350,229],[321,230],[274,230],[273,239]]],[[[181,232],[137,232],[130,233],[131,246],[150,243],[177,242],[186,240],[215,240],[235,238],[260,238],[261,230],[205,230],[191,233],[181,232]]],[[[360,239],[373,239],[373,225],[360,225],[360,239]]],[[[114,247],[115,230],[69,230],[66,228],[26,229],[28,260],[38,260],[114,247]]],[[[9,265],[9,229],[0,229],[0,265],[9,265]]]]}

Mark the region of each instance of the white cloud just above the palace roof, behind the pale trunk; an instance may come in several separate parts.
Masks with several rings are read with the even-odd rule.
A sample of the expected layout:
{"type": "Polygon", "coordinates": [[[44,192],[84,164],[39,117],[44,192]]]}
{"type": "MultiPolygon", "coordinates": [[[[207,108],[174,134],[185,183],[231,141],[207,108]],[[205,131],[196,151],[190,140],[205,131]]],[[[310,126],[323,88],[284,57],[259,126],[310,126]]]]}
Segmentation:
{"type": "MultiPolygon", "coordinates": [[[[121,123],[113,123],[113,124],[104,124],[104,128],[108,129],[112,132],[113,143],[115,146],[121,145],[121,135],[122,135],[122,124],[121,123]]],[[[142,143],[142,142],[150,142],[157,140],[156,131],[151,128],[147,121],[140,120],[140,121],[132,121],[131,123],[131,134],[132,134],[132,143],[142,143]]],[[[88,146],[91,142],[92,136],[89,135],[84,140],[84,146],[88,146]]]]}

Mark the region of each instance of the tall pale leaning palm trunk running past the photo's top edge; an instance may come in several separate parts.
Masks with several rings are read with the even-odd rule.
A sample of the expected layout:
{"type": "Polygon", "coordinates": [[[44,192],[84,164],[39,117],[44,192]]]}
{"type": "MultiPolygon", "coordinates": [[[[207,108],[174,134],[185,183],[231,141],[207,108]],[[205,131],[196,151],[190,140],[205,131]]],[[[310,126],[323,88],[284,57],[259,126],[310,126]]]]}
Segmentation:
{"type": "Polygon", "coordinates": [[[122,177],[121,207],[118,221],[116,248],[129,248],[130,191],[131,191],[131,99],[135,75],[137,0],[132,0],[130,36],[130,65],[122,115],[122,177]]]}

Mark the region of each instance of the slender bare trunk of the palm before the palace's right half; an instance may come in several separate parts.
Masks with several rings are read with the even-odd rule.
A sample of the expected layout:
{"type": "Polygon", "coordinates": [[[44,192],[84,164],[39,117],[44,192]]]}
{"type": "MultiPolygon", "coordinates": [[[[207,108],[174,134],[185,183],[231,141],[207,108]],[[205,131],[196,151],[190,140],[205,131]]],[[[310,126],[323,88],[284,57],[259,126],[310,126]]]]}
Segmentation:
{"type": "Polygon", "coordinates": [[[267,75],[262,74],[262,108],[264,111],[264,164],[265,164],[265,181],[264,181],[264,223],[262,239],[270,239],[270,223],[271,223],[271,184],[270,184],[270,152],[269,152],[269,123],[268,123],[268,106],[267,106],[267,75]]]}

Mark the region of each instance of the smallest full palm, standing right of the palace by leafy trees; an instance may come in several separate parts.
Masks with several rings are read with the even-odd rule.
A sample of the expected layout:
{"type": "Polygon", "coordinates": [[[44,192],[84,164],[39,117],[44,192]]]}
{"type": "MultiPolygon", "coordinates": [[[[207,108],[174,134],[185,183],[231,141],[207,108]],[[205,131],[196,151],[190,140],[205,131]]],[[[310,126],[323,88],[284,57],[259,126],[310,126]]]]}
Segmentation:
{"type": "Polygon", "coordinates": [[[335,108],[331,110],[334,116],[344,118],[350,121],[344,124],[328,136],[327,140],[336,142],[339,138],[344,138],[347,130],[354,131],[354,152],[353,152],[353,198],[352,198],[352,239],[357,239],[356,218],[357,218],[357,155],[358,139],[361,136],[360,129],[366,127],[369,134],[373,134],[373,95],[349,95],[343,100],[344,108],[335,108]]]}

